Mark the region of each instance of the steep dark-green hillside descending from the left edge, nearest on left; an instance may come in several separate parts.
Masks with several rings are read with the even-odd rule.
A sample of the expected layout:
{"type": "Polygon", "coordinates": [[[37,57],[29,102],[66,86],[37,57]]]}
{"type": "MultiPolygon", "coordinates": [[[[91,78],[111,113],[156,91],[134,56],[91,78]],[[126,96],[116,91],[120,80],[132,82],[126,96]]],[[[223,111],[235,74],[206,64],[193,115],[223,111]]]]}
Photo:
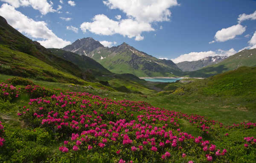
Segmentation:
{"type": "Polygon", "coordinates": [[[0,73],[58,82],[93,80],[90,73],[25,37],[1,16],[0,53],[0,73]]]}

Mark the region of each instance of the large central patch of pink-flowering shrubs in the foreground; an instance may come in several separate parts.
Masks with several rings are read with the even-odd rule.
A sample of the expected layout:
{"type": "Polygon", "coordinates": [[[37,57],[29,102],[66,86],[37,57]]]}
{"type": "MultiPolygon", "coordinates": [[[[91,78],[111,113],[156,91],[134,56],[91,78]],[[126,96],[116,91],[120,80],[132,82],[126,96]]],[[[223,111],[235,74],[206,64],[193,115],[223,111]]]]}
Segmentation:
{"type": "Polygon", "coordinates": [[[211,125],[215,122],[143,101],[113,101],[89,93],[67,92],[30,99],[18,115],[28,124],[69,137],[59,147],[63,155],[100,152],[118,162],[168,162],[172,155],[180,154],[180,159],[193,156],[201,162],[221,162],[227,153],[201,136],[182,132],[178,119],[211,125]]]}

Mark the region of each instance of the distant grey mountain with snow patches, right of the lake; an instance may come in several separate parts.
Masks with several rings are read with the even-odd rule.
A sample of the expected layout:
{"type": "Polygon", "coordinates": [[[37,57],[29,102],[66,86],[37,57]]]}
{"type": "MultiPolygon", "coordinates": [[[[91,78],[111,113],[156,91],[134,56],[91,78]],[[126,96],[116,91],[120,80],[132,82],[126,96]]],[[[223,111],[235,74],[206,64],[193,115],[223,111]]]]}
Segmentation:
{"type": "Polygon", "coordinates": [[[184,61],[184,62],[179,62],[176,65],[182,71],[195,71],[195,70],[199,70],[203,67],[206,67],[208,65],[217,64],[226,58],[227,58],[227,56],[208,56],[208,57],[200,59],[198,61],[192,61],[192,62],[184,61]]]}

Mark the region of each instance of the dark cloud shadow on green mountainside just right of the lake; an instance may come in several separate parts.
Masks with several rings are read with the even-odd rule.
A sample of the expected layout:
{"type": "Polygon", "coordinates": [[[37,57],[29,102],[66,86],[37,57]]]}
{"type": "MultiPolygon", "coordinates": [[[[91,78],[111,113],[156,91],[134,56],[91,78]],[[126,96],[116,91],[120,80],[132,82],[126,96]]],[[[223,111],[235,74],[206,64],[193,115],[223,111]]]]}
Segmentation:
{"type": "Polygon", "coordinates": [[[203,69],[196,70],[196,71],[184,72],[184,74],[189,77],[207,78],[210,76],[217,75],[219,73],[223,73],[227,70],[228,68],[225,67],[224,65],[219,65],[218,67],[205,67],[203,69]]]}

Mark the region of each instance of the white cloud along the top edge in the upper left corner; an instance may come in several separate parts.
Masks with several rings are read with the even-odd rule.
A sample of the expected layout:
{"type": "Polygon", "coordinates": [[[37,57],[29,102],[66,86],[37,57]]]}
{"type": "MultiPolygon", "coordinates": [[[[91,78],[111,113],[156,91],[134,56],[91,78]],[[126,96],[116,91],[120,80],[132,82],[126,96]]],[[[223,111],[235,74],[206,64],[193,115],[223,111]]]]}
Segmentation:
{"type": "Polygon", "coordinates": [[[53,5],[52,1],[50,1],[50,3],[48,3],[47,0],[1,0],[1,1],[9,3],[15,8],[18,8],[20,6],[31,6],[35,10],[39,10],[43,15],[49,12],[56,12],[56,10],[52,8],[52,5],[53,5]]]}

